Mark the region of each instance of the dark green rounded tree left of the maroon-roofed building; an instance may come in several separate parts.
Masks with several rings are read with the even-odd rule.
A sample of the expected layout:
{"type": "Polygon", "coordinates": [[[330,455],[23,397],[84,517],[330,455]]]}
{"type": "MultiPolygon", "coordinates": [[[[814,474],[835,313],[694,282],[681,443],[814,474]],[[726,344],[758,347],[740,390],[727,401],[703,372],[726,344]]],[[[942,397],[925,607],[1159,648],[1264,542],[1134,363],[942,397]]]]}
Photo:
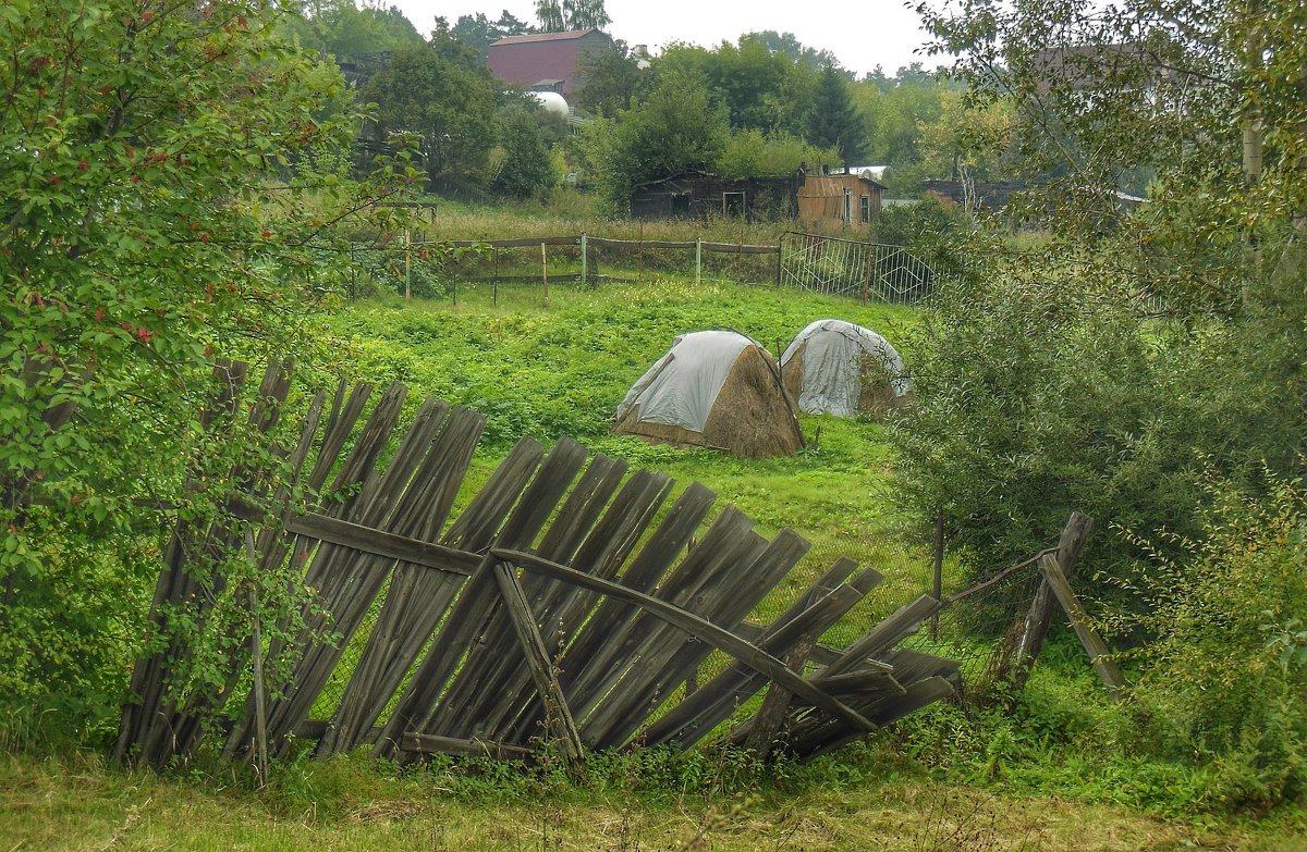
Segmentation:
{"type": "Polygon", "coordinates": [[[497,85],[476,54],[452,37],[391,55],[359,97],[378,105],[372,133],[422,140],[429,180],[438,187],[476,184],[495,140],[497,85]]]}

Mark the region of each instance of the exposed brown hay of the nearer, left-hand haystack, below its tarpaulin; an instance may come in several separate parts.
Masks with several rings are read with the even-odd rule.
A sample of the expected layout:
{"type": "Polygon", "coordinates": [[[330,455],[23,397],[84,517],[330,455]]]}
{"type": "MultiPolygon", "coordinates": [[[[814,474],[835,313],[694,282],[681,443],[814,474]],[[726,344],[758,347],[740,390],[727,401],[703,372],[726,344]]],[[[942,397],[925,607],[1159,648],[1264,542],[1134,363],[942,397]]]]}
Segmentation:
{"type": "Polygon", "coordinates": [[[772,357],[746,346],[727,374],[702,433],[681,426],[648,423],[633,408],[613,429],[652,443],[723,450],[741,459],[792,456],[804,446],[795,401],[780,383],[772,357]]]}

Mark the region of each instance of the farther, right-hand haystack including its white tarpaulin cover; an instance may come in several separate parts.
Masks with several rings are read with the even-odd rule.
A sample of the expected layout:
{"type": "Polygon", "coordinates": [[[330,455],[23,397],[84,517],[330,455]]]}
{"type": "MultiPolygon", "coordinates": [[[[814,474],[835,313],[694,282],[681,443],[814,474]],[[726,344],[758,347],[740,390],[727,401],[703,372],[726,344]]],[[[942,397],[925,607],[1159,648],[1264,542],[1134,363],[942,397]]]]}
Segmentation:
{"type": "Polygon", "coordinates": [[[844,320],[817,320],[780,357],[786,389],[808,414],[853,417],[902,404],[912,387],[903,359],[876,332],[844,320]]]}

